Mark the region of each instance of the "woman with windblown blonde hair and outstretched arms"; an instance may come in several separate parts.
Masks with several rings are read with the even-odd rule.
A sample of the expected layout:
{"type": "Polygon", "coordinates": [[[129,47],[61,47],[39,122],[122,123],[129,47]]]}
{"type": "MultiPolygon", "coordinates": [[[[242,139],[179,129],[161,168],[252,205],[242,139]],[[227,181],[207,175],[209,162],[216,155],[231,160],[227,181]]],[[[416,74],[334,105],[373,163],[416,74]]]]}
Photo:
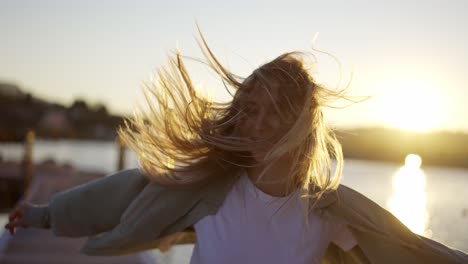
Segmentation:
{"type": "Polygon", "coordinates": [[[56,195],[49,206],[22,203],[6,227],[91,236],[82,251],[106,255],[186,242],[175,235],[193,226],[191,263],[457,263],[465,257],[412,234],[340,187],[341,146],[322,109],[345,97],[314,81],[303,53],[283,54],[242,79],[201,38],[207,64],[235,89],[231,102],[197,94],[177,54],[147,86],[150,111],[119,131],[141,169],[56,195]],[[120,196],[100,201],[111,191],[120,196]],[[383,242],[373,245],[375,238],[383,242]]]}

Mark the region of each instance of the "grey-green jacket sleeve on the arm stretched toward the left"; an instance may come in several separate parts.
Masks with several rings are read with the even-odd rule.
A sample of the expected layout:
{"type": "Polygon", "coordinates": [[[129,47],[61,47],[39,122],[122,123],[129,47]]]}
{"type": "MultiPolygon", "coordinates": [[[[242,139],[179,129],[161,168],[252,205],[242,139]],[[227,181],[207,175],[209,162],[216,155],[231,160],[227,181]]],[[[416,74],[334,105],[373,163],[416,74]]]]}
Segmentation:
{"type": "Polygon", "coordinates": [[[132,200],[148,184],[139,169],[128,169],[53,195],[29,217],[33,226],[56,236],[93,236],[111,230],[132,200]]]}

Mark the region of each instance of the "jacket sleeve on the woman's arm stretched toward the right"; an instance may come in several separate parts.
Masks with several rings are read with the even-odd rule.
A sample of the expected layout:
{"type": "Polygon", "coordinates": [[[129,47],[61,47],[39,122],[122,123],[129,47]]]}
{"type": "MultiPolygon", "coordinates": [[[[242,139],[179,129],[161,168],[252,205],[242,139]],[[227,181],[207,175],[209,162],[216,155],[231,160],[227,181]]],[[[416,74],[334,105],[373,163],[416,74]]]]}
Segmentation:
{"type": "MultiPolygon", "coordinates": [[[[371,263],[468,263],[465,253],[413,233],[393,214],[359,192],[340,185],[338,194],[338,201],[325,212],[348,225],[371,263]]],[[[359,263],[350,252],[340,255],[346,261],[332,263],[359,263]]]]}

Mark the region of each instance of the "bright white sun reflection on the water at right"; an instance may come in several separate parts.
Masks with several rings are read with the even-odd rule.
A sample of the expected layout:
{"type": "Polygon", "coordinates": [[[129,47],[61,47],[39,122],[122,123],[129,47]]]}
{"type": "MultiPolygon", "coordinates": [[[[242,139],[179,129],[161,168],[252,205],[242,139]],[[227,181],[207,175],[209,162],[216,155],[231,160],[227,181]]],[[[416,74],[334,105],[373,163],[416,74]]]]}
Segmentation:
{"type": "Polygon", "coordinates": [[[406,156],[405,165],[393,175],[390,212],[416,234],[431,237],[428,226],[426,175],[420,169],[421,157],[406,156]]]}

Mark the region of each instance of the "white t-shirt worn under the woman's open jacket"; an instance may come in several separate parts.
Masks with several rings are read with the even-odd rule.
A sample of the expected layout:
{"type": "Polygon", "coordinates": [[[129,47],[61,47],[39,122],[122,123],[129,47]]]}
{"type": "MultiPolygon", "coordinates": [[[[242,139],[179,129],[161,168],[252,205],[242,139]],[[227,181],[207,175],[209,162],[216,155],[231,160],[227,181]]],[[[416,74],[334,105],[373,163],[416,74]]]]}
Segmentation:
{"type": "Polygon", "coordinates": [[[318,264],[329,243],[345,251],[357,244],[345,225],[313,211],[306,230],[298,195],[268,195],[244,173],[218,212],[195,224],[197,241],[190,263],[318,264]]]}

